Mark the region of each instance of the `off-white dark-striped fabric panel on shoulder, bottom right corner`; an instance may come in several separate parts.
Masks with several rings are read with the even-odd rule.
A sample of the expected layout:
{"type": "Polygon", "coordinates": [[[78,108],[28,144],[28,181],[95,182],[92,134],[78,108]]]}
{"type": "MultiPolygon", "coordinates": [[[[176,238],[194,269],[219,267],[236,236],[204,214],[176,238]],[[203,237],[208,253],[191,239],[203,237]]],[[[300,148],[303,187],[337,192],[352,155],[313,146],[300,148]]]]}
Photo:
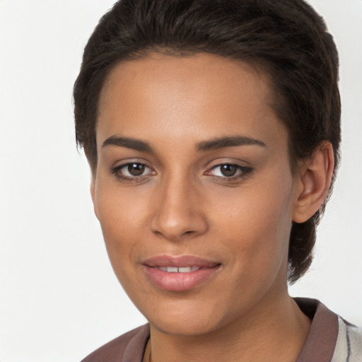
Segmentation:
{"type": "Polygon", "coordinates": [[[362,361],[362,328],[338,317],[338,337],[332,362],[362,361]]]}

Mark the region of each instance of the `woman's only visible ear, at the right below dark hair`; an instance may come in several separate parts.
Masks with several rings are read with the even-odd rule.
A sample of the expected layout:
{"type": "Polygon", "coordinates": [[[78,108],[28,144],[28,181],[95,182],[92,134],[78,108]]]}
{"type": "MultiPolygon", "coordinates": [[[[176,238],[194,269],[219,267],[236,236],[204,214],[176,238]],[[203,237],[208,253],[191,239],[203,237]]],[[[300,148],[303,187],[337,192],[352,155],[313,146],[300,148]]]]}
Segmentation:
{"type": "Polygon", "coordinates": [[[325,201],[334,168],[333,148],[325,141],[298,166],[293,221],[303,223],[311,218],[325,201]]]}

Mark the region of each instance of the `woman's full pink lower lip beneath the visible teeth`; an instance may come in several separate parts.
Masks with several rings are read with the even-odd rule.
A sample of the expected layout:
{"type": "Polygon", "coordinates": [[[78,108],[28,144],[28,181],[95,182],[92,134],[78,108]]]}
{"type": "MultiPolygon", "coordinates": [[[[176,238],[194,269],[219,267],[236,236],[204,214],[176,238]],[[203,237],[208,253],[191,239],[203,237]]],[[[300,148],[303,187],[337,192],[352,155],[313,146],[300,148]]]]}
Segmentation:
{"type": "Polygon", "coordinates": [[[166,291],[188,291],[211,279],[220,265],[210,268],[202,268],[189,273],[168,273],[155,267],[144,265],[148,279],[158,288],[166,291]]]}

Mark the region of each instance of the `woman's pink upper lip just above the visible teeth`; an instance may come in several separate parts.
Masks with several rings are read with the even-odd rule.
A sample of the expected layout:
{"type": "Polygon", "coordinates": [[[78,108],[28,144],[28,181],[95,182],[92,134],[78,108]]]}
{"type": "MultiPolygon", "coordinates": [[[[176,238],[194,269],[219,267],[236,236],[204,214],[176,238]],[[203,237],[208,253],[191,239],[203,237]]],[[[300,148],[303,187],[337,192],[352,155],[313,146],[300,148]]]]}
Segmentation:
{"type": "Polygon", "coordinates": [[[172,255],[157,255],[156,257],[149,257],[144,259],[142,264],[148,267],[216,267],[220,262],[214,260],[204,259],[201,257],[194,257],[192,255],[182,255],[174,257],[172,255]]]}

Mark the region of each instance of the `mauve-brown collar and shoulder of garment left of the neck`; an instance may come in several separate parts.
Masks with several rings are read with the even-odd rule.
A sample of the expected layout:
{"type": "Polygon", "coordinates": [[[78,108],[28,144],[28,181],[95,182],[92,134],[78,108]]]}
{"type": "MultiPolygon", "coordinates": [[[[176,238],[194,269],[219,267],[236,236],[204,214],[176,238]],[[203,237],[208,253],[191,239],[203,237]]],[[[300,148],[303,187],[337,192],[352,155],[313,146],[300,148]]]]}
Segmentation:
{"type": "Polygon", "coordinates": [[[141,362],[148,338],[149,325],[143,325],[112,339],[81,362],[122,362],[129,361],[130,358],[141,362]]]}

